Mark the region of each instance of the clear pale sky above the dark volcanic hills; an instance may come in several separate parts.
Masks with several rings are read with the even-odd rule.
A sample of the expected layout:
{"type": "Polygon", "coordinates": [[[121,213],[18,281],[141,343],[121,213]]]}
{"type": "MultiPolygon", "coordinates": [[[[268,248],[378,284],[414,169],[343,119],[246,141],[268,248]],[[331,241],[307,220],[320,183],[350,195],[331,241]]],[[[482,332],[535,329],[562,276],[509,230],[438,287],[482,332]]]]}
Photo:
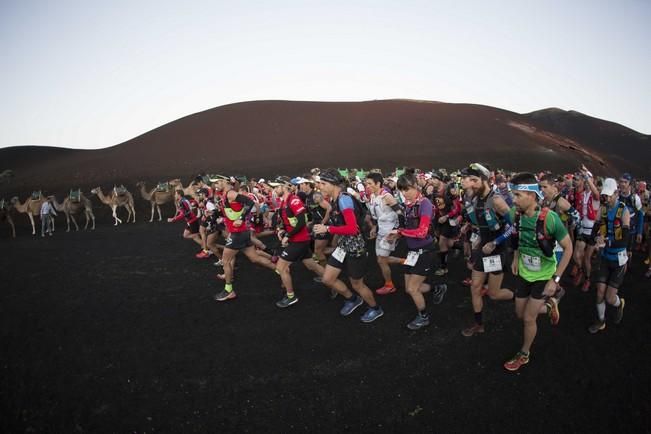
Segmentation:
{"type": "Polygon", "coordinates": [[[578,110],[651,133],[651,1],[0,1],[0,147],[239,101],[578,110]]]}

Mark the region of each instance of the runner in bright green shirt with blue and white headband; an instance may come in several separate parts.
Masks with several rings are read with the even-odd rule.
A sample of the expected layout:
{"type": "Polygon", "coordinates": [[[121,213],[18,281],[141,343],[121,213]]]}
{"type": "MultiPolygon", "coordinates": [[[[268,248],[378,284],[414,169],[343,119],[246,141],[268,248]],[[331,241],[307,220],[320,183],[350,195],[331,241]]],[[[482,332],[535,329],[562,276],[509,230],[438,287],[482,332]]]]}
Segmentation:
{"type": "Polygon", "coordinates": [[[504,367],[517,371],[529,363],[529,351],[538,331],[538,315],[549,314],[552,324],[558,324],[558,302],[552,296],[572,258],[572,240],[558,214],[540,209],[538,201],[542,193],[533,174],[518,174],[511,184],[515,203],[515,209],[511,210],[512,221],[517,231],[511,271],[517,279],[515,314],[524,322],[524,341],[522,349],[504,363],[504,367]],[[559,264],[554,255],[556,242],[563,248],[559,264]]]}

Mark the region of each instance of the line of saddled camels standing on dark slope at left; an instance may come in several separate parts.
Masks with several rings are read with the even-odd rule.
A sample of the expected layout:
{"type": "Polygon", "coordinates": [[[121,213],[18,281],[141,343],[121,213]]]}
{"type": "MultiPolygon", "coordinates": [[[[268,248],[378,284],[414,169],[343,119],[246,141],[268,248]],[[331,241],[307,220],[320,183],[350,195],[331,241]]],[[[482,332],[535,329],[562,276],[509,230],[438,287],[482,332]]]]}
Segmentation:
{"type": "MultiPolygon", "coordinates": [[[[196,181],[192,181],[188,186],[184,187],[178,178],[159,182],[151,189],[148,189],[143,181],[136,183],[140,197],[149,202],[151,206],[149,222],[154,221],[155,214],[158,215],[159,222],[163,221],[161,207],[165,207],[167,204],[171,204],[174,207],[174,211],[176,211],[174,192],[177,189],[183,190],[187,195],[194,196],[196,187],[196,181]]],[[[93,201],[91,200],[93,196],[97,196],[101,204],[110,208],[113,226],[136,222],[136,208],[133,194],[124,185],[114,185],[109,191],[104,191],[101,187],[95,187],[90,190],[89,196],[85,195],[81,189],[71,189],[62,202],[59,202],[55,195],[46,196],[40,190],[32,192],[24,201],[21,201],[17,196],[12,197],[10,200],[0,199],[0,224],[4,227],[6,223],[10,229],[11,238],[15,238],[16,228],[14,222],[17,221],[16,214],[25,214],[32,227],[32,235],[37,235],[37,222],[43,221],[44,218],[48,219],[47,231],[54,232],[56,216],[54,212],[59,212],[65,215],[66,232],[70,232],[72,226],[74,226],[75,231],[79,231],[79,223],[81,223],[79,219],[82,217],[85,218],[83,229],[94,230],[95,212],[93,210],[93,201]],[[46,202],[50,204],[53,213],[42,216],[42,210],[47,209],[47,207],[44,207],[46,202]],[[124,216],[120,218],[118,215],[121,208],[126,210],[126,219],[124,219],[124,216]]]]}

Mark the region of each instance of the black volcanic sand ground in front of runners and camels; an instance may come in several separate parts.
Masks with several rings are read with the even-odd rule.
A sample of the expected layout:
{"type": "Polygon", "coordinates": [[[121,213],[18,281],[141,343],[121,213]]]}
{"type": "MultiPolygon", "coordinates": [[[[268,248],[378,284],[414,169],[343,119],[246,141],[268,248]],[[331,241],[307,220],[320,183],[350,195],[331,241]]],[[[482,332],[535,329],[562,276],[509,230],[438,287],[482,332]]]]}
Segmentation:
{"type": "Polygon", "coordinates": [[[182,225],[106,220],[0,240],[2,432],[649,432],[639,259],[620,326],[588,334],[594,291],[572,288],[560,325],[541,317],[531,362],[509,373],[513,304],[487,301],[487,332],[461,336],[471,307],[458,259],[433,324],[409,332],[404,293],[382,297],[386,315],[365,325],[361,312],[340,317],[341,299],[302,266],[287,310],[274,305],[279,278],[245,259],[239,298],[217,303],[223,283],[182,225]]]}

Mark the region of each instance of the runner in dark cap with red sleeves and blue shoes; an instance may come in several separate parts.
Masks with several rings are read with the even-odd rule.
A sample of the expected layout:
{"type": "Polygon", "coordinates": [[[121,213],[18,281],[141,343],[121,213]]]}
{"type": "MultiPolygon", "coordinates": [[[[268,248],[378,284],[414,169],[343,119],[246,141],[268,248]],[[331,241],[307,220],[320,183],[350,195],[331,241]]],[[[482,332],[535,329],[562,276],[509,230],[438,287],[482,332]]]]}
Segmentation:
{"type": "Polygon", "coordinates": [[[339,235],[337,249],[328,259],[323,283],[331,289],[336,290],[345,299],[345,303],[339,312],[343,316],[350,315],[364,302],[369,306],[362,315],[362,322],[369,323],[384,315],[384,311],[375,302],[373,292],[364,283],[366,274],[366,241],[361,233],[362,205],[355,202],[347,193],[344,193],[344,179],[336,169],[328,169],[319,175],[319,186],[321,191],[332,198],[333,225],[314,225],[316,235],[331,233],[339,235]],[[346,270],[350,284],[355,290],[353,293],[345,283],[337,277],[342,270],[346,270]]]}

